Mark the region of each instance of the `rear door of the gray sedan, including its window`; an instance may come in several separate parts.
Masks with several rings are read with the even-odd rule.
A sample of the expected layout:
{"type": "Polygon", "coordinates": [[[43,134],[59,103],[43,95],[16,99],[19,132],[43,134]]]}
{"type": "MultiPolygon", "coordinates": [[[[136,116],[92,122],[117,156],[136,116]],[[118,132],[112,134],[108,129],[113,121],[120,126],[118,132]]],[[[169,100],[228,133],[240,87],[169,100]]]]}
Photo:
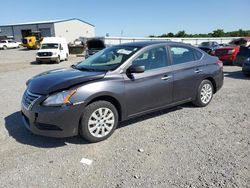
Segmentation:
{"type": "Polygon", "coordinates": [[[192,47],[171,45],[170,56],[173,69],[173,101],[193,99],[202,80],[202,53],[192,47]]]}

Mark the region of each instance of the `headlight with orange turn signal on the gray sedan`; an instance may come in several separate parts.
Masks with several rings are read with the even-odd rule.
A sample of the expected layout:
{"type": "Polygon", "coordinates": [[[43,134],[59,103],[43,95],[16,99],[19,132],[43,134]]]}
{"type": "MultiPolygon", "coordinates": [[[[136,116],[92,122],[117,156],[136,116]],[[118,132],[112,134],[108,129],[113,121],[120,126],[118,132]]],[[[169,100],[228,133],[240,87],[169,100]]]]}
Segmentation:
{"type": "Polygon", "coordinates": [[[62,91],[53,95],[50,95],[45,101],[43,101],[44,106],[63,106],[71,104],[70,98],[76,93],[76,89],[62,91]]]}

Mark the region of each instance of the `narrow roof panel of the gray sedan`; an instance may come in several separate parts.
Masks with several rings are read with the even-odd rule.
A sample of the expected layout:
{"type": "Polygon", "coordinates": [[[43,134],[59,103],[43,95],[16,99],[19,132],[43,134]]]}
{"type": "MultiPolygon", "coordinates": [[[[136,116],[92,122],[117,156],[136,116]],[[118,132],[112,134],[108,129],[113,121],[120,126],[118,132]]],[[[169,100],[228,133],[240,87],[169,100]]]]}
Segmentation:
{"type": "Polygon", "coordinates": [[[164,40],[157,40],[157,41],[142,41],[142,42],[131,42],[131,43],[124,43],[118,46],[134,46],[134,47],[146,47],[155,44],[181,44],[181,45],[189,45],[182,42],[173,42],[173,41],[164,41],[164,40]]]}

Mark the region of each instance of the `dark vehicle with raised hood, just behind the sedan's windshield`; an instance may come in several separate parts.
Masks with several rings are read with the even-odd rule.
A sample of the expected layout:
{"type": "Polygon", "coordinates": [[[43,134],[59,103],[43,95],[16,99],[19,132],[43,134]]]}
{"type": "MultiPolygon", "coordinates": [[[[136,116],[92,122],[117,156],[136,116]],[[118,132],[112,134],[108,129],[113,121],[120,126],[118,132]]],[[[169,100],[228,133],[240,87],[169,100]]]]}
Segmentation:
{"type": "Polygon", "coordinates": [[[106,48],[104,39],[102,38],[93,38],[93,39],[87,40],[86,47],[87,47],[86,54],[85,54],[86,58],[106,48]]]}

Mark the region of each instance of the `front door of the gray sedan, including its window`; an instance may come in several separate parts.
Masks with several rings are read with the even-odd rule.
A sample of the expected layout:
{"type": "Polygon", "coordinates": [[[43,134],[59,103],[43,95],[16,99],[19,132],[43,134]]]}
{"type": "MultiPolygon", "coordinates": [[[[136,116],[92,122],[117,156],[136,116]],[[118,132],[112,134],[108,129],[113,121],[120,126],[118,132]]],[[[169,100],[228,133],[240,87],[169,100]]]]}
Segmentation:
{"type": "Polygon", "coordinates": [[[165,46],[142,52],[132,66],[145,66],[145,72],[124,78],[129,117],[172,103],[173,75],[165,46]]]}

